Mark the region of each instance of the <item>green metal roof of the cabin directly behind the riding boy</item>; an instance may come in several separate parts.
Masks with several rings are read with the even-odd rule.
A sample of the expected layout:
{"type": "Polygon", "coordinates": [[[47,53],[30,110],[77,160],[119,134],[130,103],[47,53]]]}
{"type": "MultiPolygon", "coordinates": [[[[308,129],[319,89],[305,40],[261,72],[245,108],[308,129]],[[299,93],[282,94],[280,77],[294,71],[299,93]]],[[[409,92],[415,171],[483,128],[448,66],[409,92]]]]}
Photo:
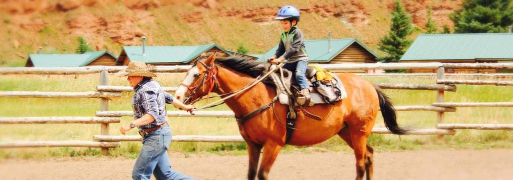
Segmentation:
{"type": "MultiPolygon", "coordinates": [[[[328,51],[328,40],[306,40],[306,54],[308,54],[308,62],[311,63],[321,63],[321,62],[329,62],[331,59],[339,55],[344,49],[349,47],[353,43],[358,43],[363,48],[365,48],[370,54],[375,57],[380,57],[376,52],[367,47],[364,43],[360,42],[356,38],[345,38],[345,39],[331,39],[331,52],[328,51]]],[[[257,61],[265,62],[269,57],[274,55],[278,49],[278,45],[274,46],[267,53],[262,55],[257,61]]]]}

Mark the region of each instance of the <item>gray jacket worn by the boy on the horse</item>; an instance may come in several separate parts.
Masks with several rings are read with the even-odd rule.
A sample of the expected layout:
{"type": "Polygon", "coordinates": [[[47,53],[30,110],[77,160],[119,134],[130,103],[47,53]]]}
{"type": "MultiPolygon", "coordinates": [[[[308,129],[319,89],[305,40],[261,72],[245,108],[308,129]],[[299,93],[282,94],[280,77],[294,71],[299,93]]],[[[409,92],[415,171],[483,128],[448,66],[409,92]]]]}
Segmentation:
{"type": "Polygon", "coordinates": [[[296,27],[291,27],[288,33],[284,31],[280,45],[278,45],[278,49],[276,49],[274,55],[276,55],[277,58],[283,55],[288,63],[298,61],[308,62],[303,32],[296,27]]]}

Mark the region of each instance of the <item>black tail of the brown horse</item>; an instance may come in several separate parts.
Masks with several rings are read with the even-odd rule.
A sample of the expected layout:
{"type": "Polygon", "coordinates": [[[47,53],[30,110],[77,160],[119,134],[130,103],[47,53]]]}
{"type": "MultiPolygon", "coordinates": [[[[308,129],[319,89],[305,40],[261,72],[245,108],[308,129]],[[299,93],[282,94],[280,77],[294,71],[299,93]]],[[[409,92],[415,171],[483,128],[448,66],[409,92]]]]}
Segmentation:
{"type": "Polygon", "coordinates": [[[396,109],[393,108],[392,102],[390,102],[388,96],[381,92],[381,89],[378,87],[376,87],[376,92],[378,92],[381,114],[383,115],[385,126],[388,128],[388,130],[397,135],[403,135],[408,132],[408,130],[399,127],[397,124],[396,109]]]}

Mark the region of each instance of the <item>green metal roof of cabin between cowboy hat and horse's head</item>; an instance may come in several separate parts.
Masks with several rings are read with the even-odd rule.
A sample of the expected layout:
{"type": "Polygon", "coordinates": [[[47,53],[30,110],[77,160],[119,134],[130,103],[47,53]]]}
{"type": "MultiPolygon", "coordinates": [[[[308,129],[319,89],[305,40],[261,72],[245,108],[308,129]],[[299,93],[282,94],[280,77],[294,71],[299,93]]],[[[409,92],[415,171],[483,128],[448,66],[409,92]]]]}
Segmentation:
{"type": "Polygon", "coordinates": [[[189,63],[212,47],[217,47],[226,54],[231,55],[231,53],[217,44],[195,46],[146,46],[144,56],[143,46],[123,46],[123,50],[130,61],[141,61],[145,63],[189,63]]]}

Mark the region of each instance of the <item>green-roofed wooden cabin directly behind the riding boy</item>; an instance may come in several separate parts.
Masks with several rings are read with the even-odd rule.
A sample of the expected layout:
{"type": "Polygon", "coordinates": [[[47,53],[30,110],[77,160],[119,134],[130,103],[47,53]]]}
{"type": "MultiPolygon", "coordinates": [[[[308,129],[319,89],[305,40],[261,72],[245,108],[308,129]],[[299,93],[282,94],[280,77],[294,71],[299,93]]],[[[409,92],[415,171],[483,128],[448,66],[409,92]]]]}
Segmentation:
{"type": "MultiPolygon", "coordinates": [[[[356,38],[306,40],[306,54],[309,64],[376,63],[379,55],[356,38]]],[[[274,55],[278,45],[265,53],[259,62],[265,62],[274,55]]],[[[348,71],[344,71],[348,72],[348,71]]],[[[349,72],[366,72],[354,70],[349,72]]]]}

